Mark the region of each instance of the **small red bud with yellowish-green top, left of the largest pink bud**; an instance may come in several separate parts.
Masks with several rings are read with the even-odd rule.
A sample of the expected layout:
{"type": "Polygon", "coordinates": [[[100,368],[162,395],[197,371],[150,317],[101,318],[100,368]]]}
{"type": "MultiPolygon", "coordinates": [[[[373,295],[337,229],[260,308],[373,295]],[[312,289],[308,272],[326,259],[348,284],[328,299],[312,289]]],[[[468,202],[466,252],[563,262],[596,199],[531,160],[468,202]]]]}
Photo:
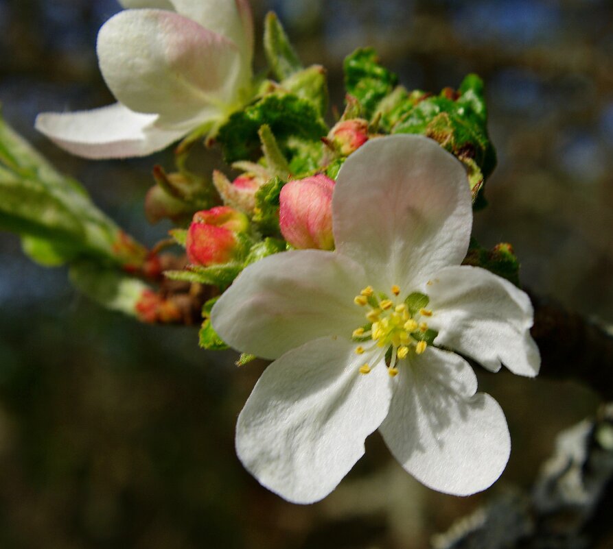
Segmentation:
{"type": "Polygon", "coordinates": [[[246,215],[229,206],[196,212],[185,242],[189,263],[207,267],[233,260],[241,249],[237,235],[248,225],[246,215]]]}

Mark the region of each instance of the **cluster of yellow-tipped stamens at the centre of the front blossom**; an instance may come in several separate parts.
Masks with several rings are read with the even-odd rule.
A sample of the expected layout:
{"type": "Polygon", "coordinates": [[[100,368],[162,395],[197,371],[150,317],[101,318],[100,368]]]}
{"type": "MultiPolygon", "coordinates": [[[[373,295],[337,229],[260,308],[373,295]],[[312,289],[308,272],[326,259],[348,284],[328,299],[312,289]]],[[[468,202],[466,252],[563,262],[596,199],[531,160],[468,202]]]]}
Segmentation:
{"type": "MultiPolygon", "coordinates": [[[[354,297],[357,306],[365,308],[367,323],[356,328],[351,334],[354,341],[360,343],[356,354],[364,354],[375,347],[386,350],[387,371],[390,376],[398,374],[397,365],[409,353],[421,354],[428,344],[432,344],[437,332],[428,328],[427,319],[432,310],[426,308],[430,298],[424,293],[413,292],[402,296],[399,286],[391,287],[391,297],[385,293],[375,292],[367,286],[354,297]]],[[[360,373],[368,374],[368,363],[360,367],[360,373]]]]}

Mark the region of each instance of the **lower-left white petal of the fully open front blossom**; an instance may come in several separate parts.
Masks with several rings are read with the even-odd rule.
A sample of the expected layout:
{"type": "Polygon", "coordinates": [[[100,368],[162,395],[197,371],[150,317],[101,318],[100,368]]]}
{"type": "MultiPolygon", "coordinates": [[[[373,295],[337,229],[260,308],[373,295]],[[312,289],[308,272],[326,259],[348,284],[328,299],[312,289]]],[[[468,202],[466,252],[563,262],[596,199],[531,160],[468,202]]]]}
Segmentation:
{"type": "Polygon", "coordinates": [[[236,426],[236,452],[259,483],[294,503],[327,496],[364,454],[365,438],[387,413],[382,362],[363,375],[364,355],[322,338],[272,363],[236,426]]]}

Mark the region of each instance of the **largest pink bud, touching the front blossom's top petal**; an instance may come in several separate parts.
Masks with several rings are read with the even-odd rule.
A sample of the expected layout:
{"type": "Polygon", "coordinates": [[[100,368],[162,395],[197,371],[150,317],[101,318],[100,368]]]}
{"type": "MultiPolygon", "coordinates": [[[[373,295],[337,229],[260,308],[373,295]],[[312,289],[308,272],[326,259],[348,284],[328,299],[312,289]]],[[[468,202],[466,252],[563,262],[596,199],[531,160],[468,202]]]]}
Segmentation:
{"type": "Polygon", "coordinates": [[[279,225],[292,246],[333,249],[332,191],[334,181],[326,175],[290,181],[279,195],[279,225]]]}

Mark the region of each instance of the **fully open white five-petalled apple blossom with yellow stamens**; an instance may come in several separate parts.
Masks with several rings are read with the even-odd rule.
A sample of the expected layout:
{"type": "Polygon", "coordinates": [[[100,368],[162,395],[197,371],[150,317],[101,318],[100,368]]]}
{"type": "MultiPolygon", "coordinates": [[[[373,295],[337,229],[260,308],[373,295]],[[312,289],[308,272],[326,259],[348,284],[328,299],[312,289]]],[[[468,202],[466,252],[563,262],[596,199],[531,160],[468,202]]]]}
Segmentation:
{"type": "Polygon", "coordinates": [[[314,502],[378,428],[421,483],[489,487],[509,457],[507,423],[451,350],[522,376],[540,356],[527,295],[460,266],[472,228],[462,164],[422,136],[369,141],[340,170],[332,210],[336,251],[264,258],[213,307],[224,341],[275,359],[238,418],[240,460],[287,500],[314,502]]]}

